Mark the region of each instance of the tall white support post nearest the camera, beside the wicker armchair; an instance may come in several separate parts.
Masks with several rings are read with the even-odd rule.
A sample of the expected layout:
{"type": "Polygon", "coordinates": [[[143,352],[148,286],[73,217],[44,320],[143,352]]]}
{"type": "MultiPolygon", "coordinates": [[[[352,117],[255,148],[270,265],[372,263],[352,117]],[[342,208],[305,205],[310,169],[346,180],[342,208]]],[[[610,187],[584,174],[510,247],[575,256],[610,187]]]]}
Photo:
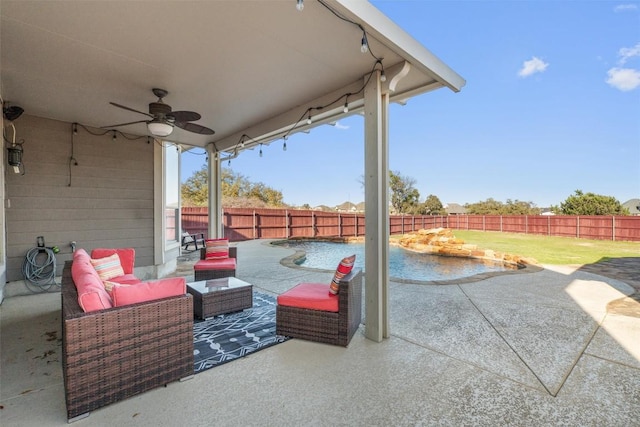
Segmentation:
{"type": "Polygon", "coordinates": [[[377,71],[364,90],[365,336],[389,337],[389,95],[377,71]]]}

